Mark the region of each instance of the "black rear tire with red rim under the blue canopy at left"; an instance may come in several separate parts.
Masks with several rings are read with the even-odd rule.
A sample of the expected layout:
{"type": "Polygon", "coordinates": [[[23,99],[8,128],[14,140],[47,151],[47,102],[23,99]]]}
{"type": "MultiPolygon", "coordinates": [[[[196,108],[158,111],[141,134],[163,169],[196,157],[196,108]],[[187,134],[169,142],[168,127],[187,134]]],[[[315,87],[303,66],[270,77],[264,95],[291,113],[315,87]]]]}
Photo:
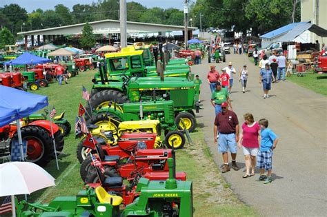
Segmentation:
{"type": "MultiPolygon", "coordinates": [[[[26,161],[36,163],[41,167],[51,161],[54,149],[52,139],[46,130],[36,126],[21,127],[21,138],[23,141],[28,141],[28,152],[36,152],[33,158],[31,158],[33,153],[28,154],[26,161]],[[38,148],[40,153],[37,153],[38,148]]],[[[12,141],[18,141],[17,132],[12,137],[12,141]]]]}

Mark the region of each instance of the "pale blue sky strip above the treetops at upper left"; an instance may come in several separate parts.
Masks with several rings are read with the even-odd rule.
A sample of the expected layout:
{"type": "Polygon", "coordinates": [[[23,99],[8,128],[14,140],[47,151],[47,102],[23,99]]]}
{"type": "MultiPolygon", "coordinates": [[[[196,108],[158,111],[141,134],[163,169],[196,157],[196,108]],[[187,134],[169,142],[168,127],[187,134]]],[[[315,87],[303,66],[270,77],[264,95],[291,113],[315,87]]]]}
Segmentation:
{"type": "MultiPolygon", "coordinates": [[[[37,8],[41,8],[43,10],[54,9],[54,6],[57,4],[62,3],[66,7],[72,9],[72,6],[76,5],[77,3],[80,4],[87,4],[92,3],[92,1],[97,0],[0,0],[0,7],[8,5],[10,3],[17,3],[22,8],[25,8],[27,12],[32,12],[37,8]]],[[[126,0],[132,1],[132,0],[126,0]]],[[[152,7],[159,7],[159,8],[179,8],[183,10],[184,0],[133,0],[136,2],[141,3],[143,6],[147,8],[152,7]]]]}

